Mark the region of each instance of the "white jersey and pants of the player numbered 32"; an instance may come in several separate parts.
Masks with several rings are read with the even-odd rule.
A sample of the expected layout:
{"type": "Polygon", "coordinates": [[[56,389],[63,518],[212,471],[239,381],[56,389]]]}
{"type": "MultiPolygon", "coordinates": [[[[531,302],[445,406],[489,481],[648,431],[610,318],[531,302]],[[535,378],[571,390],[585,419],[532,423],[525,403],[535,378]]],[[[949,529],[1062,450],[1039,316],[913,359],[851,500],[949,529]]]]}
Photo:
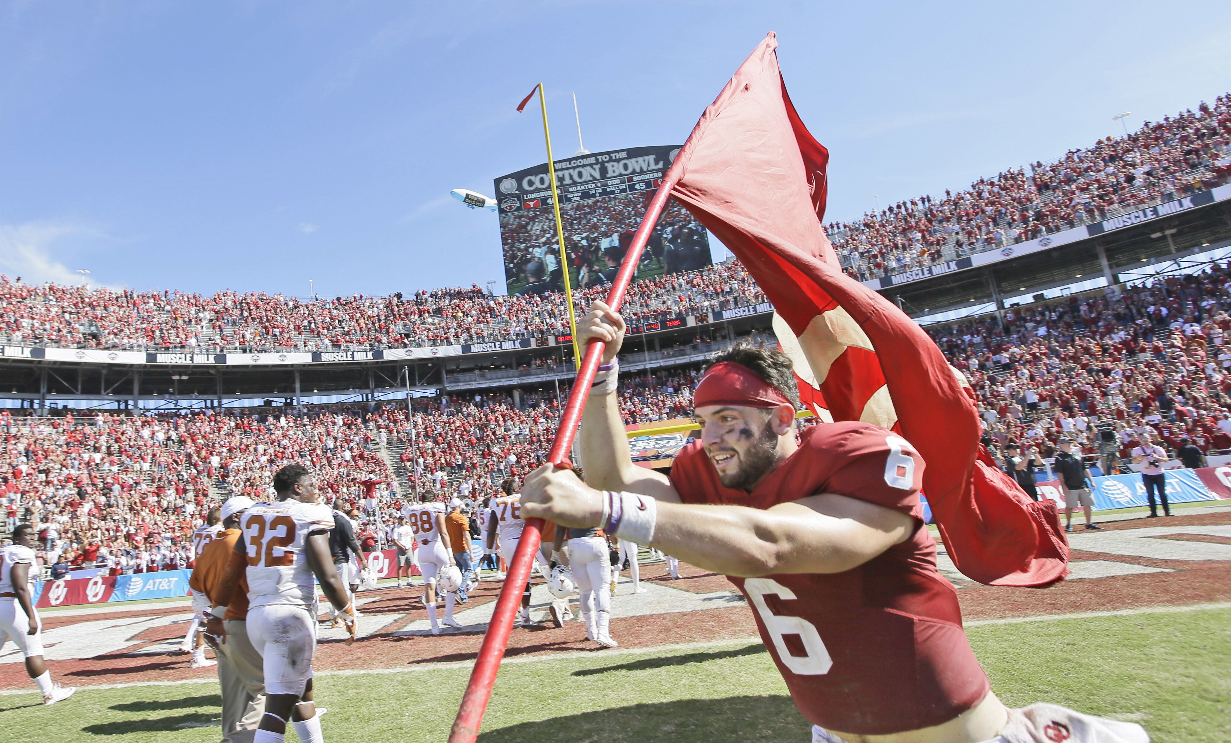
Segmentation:
{"type": "Polygon", "coordinates": [[[316,585],[304,554],[308,535],[334,527],[326,505],[281,500],[244,511],[247,635],[261,654],[266,694],[302,695],[316,652],[316,585]]]}

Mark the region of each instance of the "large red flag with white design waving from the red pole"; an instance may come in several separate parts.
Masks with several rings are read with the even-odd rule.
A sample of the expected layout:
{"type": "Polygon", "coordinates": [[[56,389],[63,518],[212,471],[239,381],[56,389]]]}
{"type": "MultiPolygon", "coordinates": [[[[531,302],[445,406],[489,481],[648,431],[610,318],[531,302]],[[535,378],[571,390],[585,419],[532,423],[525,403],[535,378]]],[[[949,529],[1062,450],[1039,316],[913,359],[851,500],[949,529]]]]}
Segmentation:
{"type": "MultiPolygon", "coordinates": [[[[927,462],[923,492],[958,569],[1048,585],[1069,545],[1053,501],[980,461],[965,380],[891,302],[846,276],[821,225],[828,152],[778,70],[773,33],[697,123],[672,196],[730,248],[776,308],[774,331],[822,419],[900,431],[927,462]]],[[[986,456],[986,455],[984,455],[986,456]]]]}

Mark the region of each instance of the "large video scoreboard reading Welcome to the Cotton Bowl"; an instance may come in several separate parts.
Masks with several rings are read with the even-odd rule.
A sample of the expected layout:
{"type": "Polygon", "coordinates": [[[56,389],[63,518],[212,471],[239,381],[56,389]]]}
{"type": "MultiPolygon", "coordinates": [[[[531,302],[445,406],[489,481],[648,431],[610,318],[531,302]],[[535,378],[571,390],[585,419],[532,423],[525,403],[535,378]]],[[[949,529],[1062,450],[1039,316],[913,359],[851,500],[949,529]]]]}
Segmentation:
{"type": "MultiPolygon", "coordinates": [[[[633,232],[680,147],[634,147],[555,164],[569,280],[574,288],[611,283],[633,232]]],[[[564,290],[547,164],[496,179],[500,243],[510,294],[564,290]]],[[[709,233],[670,200],[650,235],[636,277],[696,271],[710,264],[709,233]]]]}

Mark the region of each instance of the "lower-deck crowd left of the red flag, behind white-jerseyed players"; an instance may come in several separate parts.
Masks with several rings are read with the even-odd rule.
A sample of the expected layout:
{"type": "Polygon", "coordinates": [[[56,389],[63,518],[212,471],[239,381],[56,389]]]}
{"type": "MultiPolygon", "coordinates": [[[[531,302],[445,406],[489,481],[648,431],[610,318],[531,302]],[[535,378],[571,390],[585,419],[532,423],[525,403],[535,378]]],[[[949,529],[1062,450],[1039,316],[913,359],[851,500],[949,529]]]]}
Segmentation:
{"type": "MultiPolygon", "coordinates": [[[[628,421],[687,414],[696,373],[657,372],[652,388],[645,376],[627,381],[628,421]]],[[[137,418],[0,410],[0,508],[9,529],[38,527],[44,564],[63,557],[65,568],[114,574],[177,569],[192,561],[190,536],[211,508],[233,494],[261,500],[282,465],[302,461],[329,500],[353,504],[361,540],[374,543],[375,511],[401,508],[412,471],[423,493],[491,494],[544,461],[558,413],[554,393],[531,393],[521,408],[503,393],[419,398],[412,449],[399,405],[137,418]],[[388,465],[398,460],[401,473],[388,465]]]]}

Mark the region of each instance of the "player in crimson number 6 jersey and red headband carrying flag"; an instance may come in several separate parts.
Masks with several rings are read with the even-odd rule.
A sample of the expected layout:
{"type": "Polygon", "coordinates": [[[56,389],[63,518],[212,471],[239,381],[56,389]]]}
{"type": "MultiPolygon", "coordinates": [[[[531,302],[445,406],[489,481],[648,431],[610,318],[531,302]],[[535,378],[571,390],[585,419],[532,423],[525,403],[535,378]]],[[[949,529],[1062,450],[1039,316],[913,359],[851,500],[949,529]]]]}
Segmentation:
{"type": "Polygon", "coordinates": [[[918,453],[858,421],[796,440],[799,397],[779,351],[720,352],[693,394],[700,439],[670,478],[636,467],[614,394],[623,336],[623,319],[601,302],[577,323],[579,340],[606,344],[581,425],[588,484],[540,467],[522,487],[522,513],[599,526],[725,573],[814,741],[1034,743],[1060,732],[1070,743],[1149,741],[1136,725],[1001,704],[936,567],[918,453]]]}

